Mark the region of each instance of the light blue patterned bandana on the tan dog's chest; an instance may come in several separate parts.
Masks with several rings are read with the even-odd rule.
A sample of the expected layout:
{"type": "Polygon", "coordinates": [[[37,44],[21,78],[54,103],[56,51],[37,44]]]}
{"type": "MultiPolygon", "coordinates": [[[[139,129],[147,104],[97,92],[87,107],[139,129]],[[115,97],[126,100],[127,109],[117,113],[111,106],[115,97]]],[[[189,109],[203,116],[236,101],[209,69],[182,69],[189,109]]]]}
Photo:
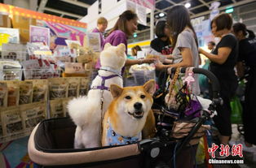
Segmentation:
{"type": "Polygon", "coordinates": [[[138,136],[133,137],[127,137],[127,136],[121,136],[115,132],[111,126],[110,120],[108,118],[107,121],[107,145],[113,146],[113,145],[120,145],[120,144],[135,144],[139,140],[141,140],[141,132],[139,132],[138,136]]]}

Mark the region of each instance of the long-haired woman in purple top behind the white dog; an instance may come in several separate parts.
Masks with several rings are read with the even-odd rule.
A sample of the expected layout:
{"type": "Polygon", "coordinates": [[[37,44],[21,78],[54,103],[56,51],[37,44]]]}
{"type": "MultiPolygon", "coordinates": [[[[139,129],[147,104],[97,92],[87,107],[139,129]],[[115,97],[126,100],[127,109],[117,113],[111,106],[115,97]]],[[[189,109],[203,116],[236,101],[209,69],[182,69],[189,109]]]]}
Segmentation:
{"type": "MultiPolygon", "coordinates": [[[[127,54],[127,39],[132,36],[133,33],[137,30],[138,25],[138,16],[133,11],[124,11],[119,15],[117,23],[114,25],[112,30],[108,33],[108,37],[104,41],[104,44],[110,43],[111,45],[119,45],[123,43],[126,45],[126,54],[127,54]]],[[[126,66],[131,66],[135,64],[142,63],[152,63],[155,59],[126,59],[126,66]]],[[[100,67],[99,61],[97,62],[96,68],[100,67]]]]}

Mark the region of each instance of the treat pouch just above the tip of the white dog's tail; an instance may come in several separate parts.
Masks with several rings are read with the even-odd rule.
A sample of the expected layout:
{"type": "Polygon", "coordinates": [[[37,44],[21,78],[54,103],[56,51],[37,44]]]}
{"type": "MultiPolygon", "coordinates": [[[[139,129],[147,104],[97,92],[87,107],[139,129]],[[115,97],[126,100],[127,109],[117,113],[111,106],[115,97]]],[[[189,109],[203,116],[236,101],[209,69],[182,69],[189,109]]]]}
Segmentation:
{"type": "Polygon", "coordinates": [[[77,97],[80,79],[76,77],[69,77],[65,79],[68,80],[68,97],[77,97]]]}

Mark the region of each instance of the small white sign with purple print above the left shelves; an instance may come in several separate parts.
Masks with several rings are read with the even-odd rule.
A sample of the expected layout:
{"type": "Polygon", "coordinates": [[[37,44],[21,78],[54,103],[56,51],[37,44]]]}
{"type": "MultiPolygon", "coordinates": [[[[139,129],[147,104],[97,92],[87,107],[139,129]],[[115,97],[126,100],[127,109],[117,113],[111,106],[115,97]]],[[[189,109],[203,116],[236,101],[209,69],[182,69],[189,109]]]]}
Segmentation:
{"type": "Polygon", "coordinates": [[[50,29],[30,25],[29,42],[43,42],[50,46],[50,29]]]}

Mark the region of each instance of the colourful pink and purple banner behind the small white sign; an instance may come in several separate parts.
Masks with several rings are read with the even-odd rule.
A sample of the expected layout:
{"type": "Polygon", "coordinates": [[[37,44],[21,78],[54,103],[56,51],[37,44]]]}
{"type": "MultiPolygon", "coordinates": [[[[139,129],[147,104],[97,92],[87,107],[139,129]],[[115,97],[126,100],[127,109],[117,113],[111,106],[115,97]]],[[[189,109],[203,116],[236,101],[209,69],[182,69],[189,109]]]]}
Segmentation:
{"type": "Polygon", "coordinates": [[[79,28],[66,24],[53,23],[45,20],[38,20],[38,26],[50,28],[50,49],[55,50],[57,46],[66,46],[65,40],[79,41],[83,45],[86,36],[86,28],[79,28]]]}

